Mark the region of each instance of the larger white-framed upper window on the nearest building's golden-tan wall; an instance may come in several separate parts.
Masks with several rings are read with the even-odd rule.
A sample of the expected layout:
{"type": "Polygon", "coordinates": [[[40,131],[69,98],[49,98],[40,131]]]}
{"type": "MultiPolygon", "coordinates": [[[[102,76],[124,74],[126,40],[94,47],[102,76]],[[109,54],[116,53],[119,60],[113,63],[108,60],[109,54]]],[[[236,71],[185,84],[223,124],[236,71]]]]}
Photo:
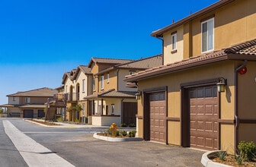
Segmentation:
{"type": "Polygon", "coordinates": [[[201,52],[210,52],[214,50],[214,17],[209,19],[209,20],[205,20],[201,23],[201,52]],[[212,24],[212,27],[210,27],[210,25],[212,24]],[[203,36],[203,26],[206,25],[206,36],[203,36]],[[212,32],[212,34],[211,34],[212,32]],[[204,39],[204,37],[206,37],[206,39],[204,39]],[[206,41],[206,43],[203,43],[204,41],[206,41]],[[210,42],[212,43],[212,45],[210,45],[210,42]],[[206,46],[204,46],[206,45],[206,46]]]}

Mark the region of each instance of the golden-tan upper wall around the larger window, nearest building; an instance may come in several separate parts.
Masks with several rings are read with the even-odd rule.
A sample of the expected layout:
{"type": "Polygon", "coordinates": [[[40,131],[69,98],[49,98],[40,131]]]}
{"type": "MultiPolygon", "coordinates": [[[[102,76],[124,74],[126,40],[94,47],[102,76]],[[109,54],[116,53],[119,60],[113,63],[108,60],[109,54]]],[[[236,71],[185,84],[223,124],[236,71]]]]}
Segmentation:
{"type": "Polygon", "coordinates": [[[193,20],[191,23],[193,56],[201,54],[200,20],[214,14],[214,50],[219,50],[255,38],[255,8],[254,0],[235,1],[193,20]]]}

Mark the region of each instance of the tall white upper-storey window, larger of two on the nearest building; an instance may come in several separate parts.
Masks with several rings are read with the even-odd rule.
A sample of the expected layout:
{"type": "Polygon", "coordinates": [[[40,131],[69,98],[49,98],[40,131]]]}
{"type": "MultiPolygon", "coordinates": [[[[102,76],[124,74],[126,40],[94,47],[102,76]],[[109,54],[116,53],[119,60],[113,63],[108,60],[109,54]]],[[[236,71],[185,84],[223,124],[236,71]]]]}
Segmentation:
{"type": "Polygon", "coordinates": [[[202,52],[213,50],[214,18],[202,22],[202,52]]]}

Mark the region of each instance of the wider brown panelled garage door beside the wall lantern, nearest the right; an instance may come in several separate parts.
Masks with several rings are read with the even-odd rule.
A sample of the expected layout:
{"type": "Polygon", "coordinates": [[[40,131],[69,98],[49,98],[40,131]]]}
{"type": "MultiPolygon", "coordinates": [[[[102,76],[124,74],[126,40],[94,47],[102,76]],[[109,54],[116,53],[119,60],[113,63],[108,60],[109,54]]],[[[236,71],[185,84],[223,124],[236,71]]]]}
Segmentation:
{"type": "Polygon", "coordinates": [[[219,149],[219,102],[216,87],[190,90],[190,147],[219,149]]]}

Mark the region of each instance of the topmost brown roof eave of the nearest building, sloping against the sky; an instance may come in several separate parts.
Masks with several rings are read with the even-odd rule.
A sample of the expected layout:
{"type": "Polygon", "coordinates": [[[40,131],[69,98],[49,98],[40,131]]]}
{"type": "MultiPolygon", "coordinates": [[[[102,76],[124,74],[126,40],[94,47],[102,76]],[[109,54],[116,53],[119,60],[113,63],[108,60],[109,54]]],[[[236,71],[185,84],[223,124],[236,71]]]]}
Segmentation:
{"type": "Polygon", "coordinates": [[[224,5],[227,5],[231,2],[234,2],[235,0],[220,0],[219,2],[214,3],[213,5],[210,5],[206,8],[203,8],[200,11],[197,11],[194,14],[190,14],[190,16],[188,17],[184,17],[184,19],[178,20],[177,22],[168,25],[167,27],[164,27],[162,29],[159,30],[155,30],[151,33],[151,36],[155,36],[155,37],[162,37],[163,33],[167,32],[168,30],[171,30],[175,27],[181,26],[182,24],[186,24],[187,22],[189,22],[190,20],[194,20],[197,17],[202,16],[203,14],[207,14],[210,11],[214,11],[217,8],[221,8],[224,5]]]}

